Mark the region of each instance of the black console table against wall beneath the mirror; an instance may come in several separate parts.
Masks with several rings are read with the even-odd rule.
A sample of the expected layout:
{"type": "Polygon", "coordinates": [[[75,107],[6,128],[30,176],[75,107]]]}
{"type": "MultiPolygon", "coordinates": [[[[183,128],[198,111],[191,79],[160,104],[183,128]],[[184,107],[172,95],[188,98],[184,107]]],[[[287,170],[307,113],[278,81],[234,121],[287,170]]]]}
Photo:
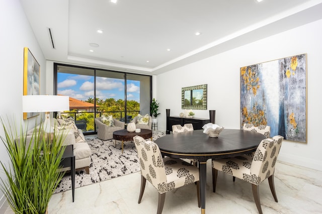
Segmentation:
{"type": "Polygon", "coordinates": [[[194,130],[200,130],[205,124],[210,123],[209,119],[185,118],[185,117],[182,118],[179,116],[171,116],[171,117],[168,117],[167,120],[168,120],[167,131],[172,131],[173,125],[184,126],[185,124],[192,124],[194,130]]]}

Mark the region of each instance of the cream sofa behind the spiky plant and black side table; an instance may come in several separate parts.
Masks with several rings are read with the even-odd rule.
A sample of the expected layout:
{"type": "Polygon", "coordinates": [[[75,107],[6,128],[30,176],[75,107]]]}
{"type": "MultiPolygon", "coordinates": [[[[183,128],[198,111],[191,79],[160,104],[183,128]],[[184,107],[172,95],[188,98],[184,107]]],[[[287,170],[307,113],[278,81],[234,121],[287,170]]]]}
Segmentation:
{"type": "MultiPolygon", "coordinates": [[[[51,119],[51,123],[52,125],[56,123],[57,125],[57,120],[56,119],[51,119]]],[[[37,129],[39,129],[39,126],[37,127],[37,129]]],[[[26,143],[27,145],[30,143],[31,141],[31,136],[34,132],[34,129],[30,130],[27,132],[27,139],[26,139],[26,143]]],[[[85,142],[76,142],[75,140],[75,135],[73,133],[74,131],[71,129],[66,129],[66,130],[61,130],[56,132],[57,135],[65,135],[64,136],[64,142],[63,145],[73,145],[73,152],[75,155],[75,170],[81,170],[84,169],[86,171],[87,174],[90,174],[90,163],[91,163],[91,155],[92,155],[92,151],[90,149],[90,146],[88,145],[88,143],[85,142]]],[[[78,129],[78,133],[79,135],[83,135],[82,130],[78,129]]],[[[63,168],[62,170],[66,171],[66,170],[70,170],[70,167],[66,167],[63,168]]]]}

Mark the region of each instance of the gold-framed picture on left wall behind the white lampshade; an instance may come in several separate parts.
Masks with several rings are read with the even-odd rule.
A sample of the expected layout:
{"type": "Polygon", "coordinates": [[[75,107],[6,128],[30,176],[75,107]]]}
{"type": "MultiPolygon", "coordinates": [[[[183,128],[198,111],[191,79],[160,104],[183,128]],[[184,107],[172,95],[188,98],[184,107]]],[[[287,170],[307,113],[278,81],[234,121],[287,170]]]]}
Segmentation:
{"type": "MultiPolygon", "coordinates": [[[[40,95],[40,65],[28,48],[24,48],[24,95],[40,95]]],[[[24,113],[24,120],[39,113],[24,113]]]]}

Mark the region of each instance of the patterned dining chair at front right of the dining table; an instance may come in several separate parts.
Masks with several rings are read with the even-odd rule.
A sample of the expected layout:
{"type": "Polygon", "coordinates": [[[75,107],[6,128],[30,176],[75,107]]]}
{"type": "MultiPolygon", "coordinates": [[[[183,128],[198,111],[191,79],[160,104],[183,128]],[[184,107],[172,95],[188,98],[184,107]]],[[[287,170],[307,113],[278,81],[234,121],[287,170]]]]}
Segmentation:
{"type": "Polygon", "coordinates": [[[259,213],[263,213],[259,196],[259,184],[266,178],[268,178],[273,197],[278,202],[274,186],[274,171],[283,139],[284,137],[277,135],[273,138],[262,140],[253,158],[248,155],[240,155],[212,160],[213,192],[216,192],[219,170],[252,184],[253,196],[259,213]]]}

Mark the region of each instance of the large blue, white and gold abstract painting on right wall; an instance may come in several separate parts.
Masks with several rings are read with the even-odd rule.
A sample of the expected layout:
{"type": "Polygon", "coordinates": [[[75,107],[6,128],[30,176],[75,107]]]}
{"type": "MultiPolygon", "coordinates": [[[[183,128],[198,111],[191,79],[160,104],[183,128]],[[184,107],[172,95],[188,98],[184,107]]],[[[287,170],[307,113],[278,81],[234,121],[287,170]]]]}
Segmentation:
{"type": "Polygon", "coordinates": [[[240,127],[271,127],[271,137],[306,142],[306,54],[240,68],[240,127]]]}

